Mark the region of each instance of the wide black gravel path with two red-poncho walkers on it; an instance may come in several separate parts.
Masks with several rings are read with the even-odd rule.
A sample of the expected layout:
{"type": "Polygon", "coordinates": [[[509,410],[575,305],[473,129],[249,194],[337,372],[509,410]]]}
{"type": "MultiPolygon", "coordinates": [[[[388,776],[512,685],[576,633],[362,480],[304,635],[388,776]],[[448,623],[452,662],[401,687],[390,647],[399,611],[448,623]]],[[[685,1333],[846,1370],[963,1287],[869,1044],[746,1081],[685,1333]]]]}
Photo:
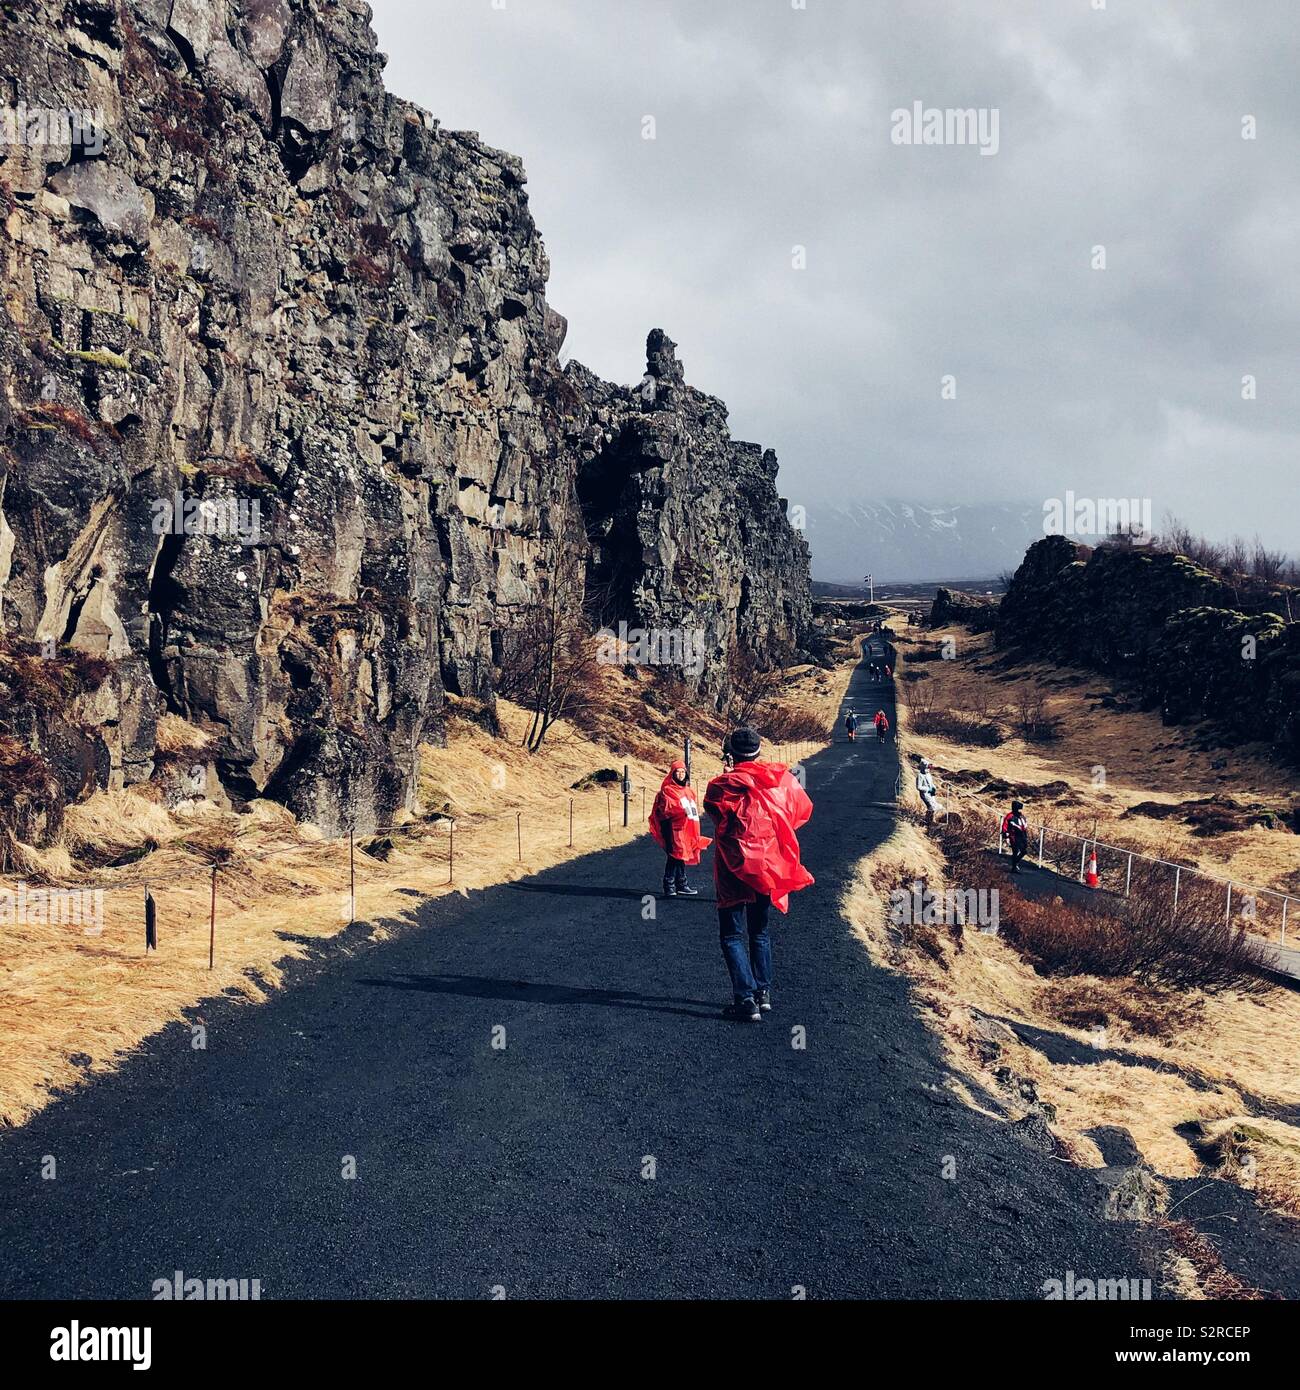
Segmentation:
{"type": "MultiPolygon", "coordinates": [[[[861,669],[848,702],[893,721],[861,669]]],[[[648,837],[428,902],[393,940],[323,948],[266,1005],[204,1006],[206,1049],[170,1027],[0,1137],[0,1295],[149,1298],[178,1269],[263,1298],[1155,1282],[1087,1173],[945,1090],[907,983],[854,940],[840,895],[890,833],[897,774],[865,734],[806,764],[818,881],[776,926],[762,1024],[719,1016],[708,858],[705,892],[655,920],[648,837]]]]}

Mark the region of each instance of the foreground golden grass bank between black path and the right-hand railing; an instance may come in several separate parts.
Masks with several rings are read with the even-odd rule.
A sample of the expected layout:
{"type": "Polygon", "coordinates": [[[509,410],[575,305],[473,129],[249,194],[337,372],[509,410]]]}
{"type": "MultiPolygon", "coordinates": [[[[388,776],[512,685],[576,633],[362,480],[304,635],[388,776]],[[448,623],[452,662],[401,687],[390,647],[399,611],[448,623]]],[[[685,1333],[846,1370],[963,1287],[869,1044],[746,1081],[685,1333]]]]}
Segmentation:
{"type": "MultiPolygon", "coordinates": [[[[912,980],[919,1012],[954,1068],[994,1095],[1007,1097],[993,1074],[996,1068],[1009,1066],[1015,1076],[1033,1081],[1039,1098],[1055,1108],[1053,1129],[1078,1162],[1100,1166],[1101,1151],[1086,1131],[1119,1125],[1155,1172],[1169,1177],[1214,1173],[1233,1182],[1250,1172],[1249,1186],[1261,1200],[1279,1212],[1300,1215],[1300,1127],[1250,1113],[1257,1101],[1300,1104],[1294,1065],[1300,1055],[1300,995],[1274,990],[1251,998],[1197,994],[1139,1001],[1132,981],[1090,977],[1072,979],[1065,988],[1059,980],[1039,977],[998,935],[968,929],[958,949],[945,929],[893,927],[887,917],[890,891],[918,878],[941,891],[944,862],[939,845],[902,819],[890,840],[858,866],[843,906],[872,958],[912,980]],[[1100,1030],[1068,1022],[1076,1016],[1080,998],[1103,1016],[1100,1030]],[[1162,1009],[1169,1015],[1164,1022],[1162,1009]],[[987,1062],[972,1034],[976,1015],[1012,1029],[1027,1024],[1089,1048],[1119,1051],[1139,1065],[1104,1056],[1053,1063],[1023,1041],[1004,1042],[1000,1055],[987,1062]],[[1146,1031],[1153,1015],[1161,1036],[1146,1031]],[[1179,1133],[1190,1125],[1203,1126],[1207,1143],[1193,1147],[1179,1133]],[[1236,1131],[1244,1131],[1237,1148],[1253,1155],[1253,1165],[1243,1168],[1240,1152],[1215,1150],[1214,1141],[1236,1131]]],[[[1023,1112],[1014,1095],[1005,1105],[1012,1119],[1023,1112]]]]}

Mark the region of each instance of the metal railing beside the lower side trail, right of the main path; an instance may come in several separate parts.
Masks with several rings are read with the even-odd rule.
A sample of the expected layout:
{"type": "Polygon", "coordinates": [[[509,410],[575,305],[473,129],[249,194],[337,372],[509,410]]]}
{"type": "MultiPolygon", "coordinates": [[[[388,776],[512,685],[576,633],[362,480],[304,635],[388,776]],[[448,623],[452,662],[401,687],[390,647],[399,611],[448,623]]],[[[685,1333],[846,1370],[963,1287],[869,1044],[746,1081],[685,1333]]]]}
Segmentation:
{"type": "MultiPolygon", "coordinates": [[[[901,776],[900,776],[901,784],[901,776]]],[[[944,831],[951,810],[947,809],[937,821],[940,831],[944,831]]],[[[980,801],[977,796],[962,796],[959,810],[973,809],[987,816],[996,827],[989,837],[989,849],[996,849],[1001,856],[1005,851],[1005,837],[1002,834],[1002,812],[980,801]]],[[[1104,888],[1116,897],[1128,898],[1133,892],[1150,895],[1153,892],[1168,891],[1171,922],[1176,920],[1180,901],[1186,901],[1186,890],[1199,883],[1212,884],[1225,890],[1224,922],[1230,924],[1233,908],[1236,915],[1258,931],[1262,923],[1260,906],[1272,905],[1276,913],[1278,944],[1286,945],[1287,929],[1294,937],[1296,926],[1300,924],[1300,898],[1282,892],[1276,888],[1260,888],[1254,884],[1243,883],[1240,878],[1224,878],[1219,874],[1207,873],[1193,865],[1175,863],[1169,859],[1158,859],[1154,855],[1144,855],[1137,849],[1125,849],[1121,845],[1110,845],[1093,835],[1078,835],[1069,830],[1058,830],[1040,821],[1029,830],[1029,851],[1026,859],[1034,860],[1040,869],[1050,869],[1061,877],[1078,883],[1087,881],[1089,851],[1097,855],[1098,890],[1104,888]],[[1135,873],[1136,867],[1136,873],[1135,873]]],[[[1272,930],[1264,929],[1264,934],[1271,937],[1272,930]]]]}

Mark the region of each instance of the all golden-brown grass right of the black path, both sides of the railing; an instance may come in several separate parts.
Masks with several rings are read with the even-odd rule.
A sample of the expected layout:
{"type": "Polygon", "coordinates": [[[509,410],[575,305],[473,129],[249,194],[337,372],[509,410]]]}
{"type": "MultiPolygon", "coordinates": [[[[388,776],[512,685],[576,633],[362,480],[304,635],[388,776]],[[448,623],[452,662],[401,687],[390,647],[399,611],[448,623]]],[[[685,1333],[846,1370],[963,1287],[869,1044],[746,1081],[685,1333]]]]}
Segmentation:
{"type": "MultiPolygon", "coordinates": [[[[1242,801],[1289,801],[1293,781],[1264,751],[1233,749],[1228,753],[1228,781],[1221,781],[1221,770],[1210,763],[1222,755],[1196,748],[1194,731],[1165,728],[1150,714],[1089,709],[1089,694],[1107,689],[1098,677],[1062,684],[1061,676],[1079,673],[1043,666],[993,670],[987,638],[961,631],[927,634],[920,642],[943,635],[957,638],[958,659],[929,662],[922,669],[943,682],[954,703],[1011,708],[1018,688],[1033,684],[1050,691],[1051,710],[1064,721],[1062,737],[1046,746],[1011,738],[998,748],[968,748],[950,738],[912,734],[908,710],[901,706],[900,751],[908,767],[911,755],[923,752],[940,780],[952,770],[982,769],[1016,784],[1066,781],[1071,794],[1061,799],[1068,803],[1076,798],[1078,805],[1058,808],[1057,823],[1073,815],[1086,820],[1090,831],[1096,819],[1103,840],[1107,826],[1122,827],[1129,837],[1143,834],[1135,830],[1141,817],[1123,816],[1139,801],[1183,799],[1217,788],[1242,801]],[[991,691],[987,685],[980,689],[982,682],[991,691]],[[1105,788],[1093,787],[1097,763],[1107,767],[1105,788]],[[1147,778],[1158,778],[1161,791],[1153,791],[1147,778]]],[[[909,651],[915,651],[912,644],[901,644],[901,671],[908,669],[909,651]]],[[[1237,1182],[1256,1191],[1265,1207],[1300,1218],[1300,1126],[1267,1118],[1269,1111],[1300,1105],[1300,992],[1274,987],[1261,994],[1172,994],[1130,979],[1044,977],[997,934],[972,927],[954,935],[943,927],[915,931],[893,926],[887,916],[893,890],[916,880],[941,890],[950,873],[941,838],[920,824],[911,776],[904,781],[909,809],[890,841],[859,865],[844,910],[872,958],[912,980],[923,1017],[965,1079],[955,1081],[954,1090],[989,1112],[980,1094],[997,1097],[994,1109],[1016,1119],[1026,1106],[994,1074],[1009,1068],[1054,1108],[1053,1131],[1076,1162],[1100,1166],[1101,1152],[1086,1131],[1118,1125],[1130,1131],[1157,1173],[1237,1182]],[[982,1015],[1012,1029],[1027,1024],[1104,1054],[1118,1052],[1136,1065],[1112,1056],[1053,1063],[1025,1041],[1004,1041],[990,1059],[977,1036],[982,1015]]],[[[951,784],[941,785],[940,796],[958,809],[962,805],[951,784]]],[[[1147,842],[1151,851],[1168,853],[1173,823],[1154,824],[1157,828],[1146,831],[1147,842]]],[[[1226,867],[1264,885],[1294,884],[1300,838],[1287,830],[1257,827],[1218,841],[1183,831],[1172,841],[1180,856],[1214,872],[1226,867]]],[[[1183,1294],[1190,1291],[1186,1265],[1180,1262],[1180,1279],[1173,1280],[1183,1294]]]]}

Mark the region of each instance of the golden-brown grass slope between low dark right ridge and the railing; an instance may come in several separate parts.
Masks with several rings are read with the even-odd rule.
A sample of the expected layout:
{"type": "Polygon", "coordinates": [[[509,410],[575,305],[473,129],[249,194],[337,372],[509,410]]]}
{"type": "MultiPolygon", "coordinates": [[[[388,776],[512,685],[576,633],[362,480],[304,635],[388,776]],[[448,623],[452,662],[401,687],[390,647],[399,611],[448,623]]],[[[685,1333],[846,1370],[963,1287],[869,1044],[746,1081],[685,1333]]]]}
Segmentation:
{"type": "Polygon", "coordinates": [[[911,731],[901,701],[900,731],[907,733],[908,752],[923,753],[936,764],[940,799],[959,806],[961,788],[944,785],[944,774],[954,771],[983,770],[1004,781],[1034,785],[1065,781],[1071,788],[1066,805],[1034,805],[1026,798],[1030,820],[1041,816],[1048,824],[1103,841],[1118,837],[1143,853],[1173,853],[1207,873],[1258,888],[1300,890],[1300,837],[1289,830],[1253,826],[1232,834],[1197,835],[1179,819],[1125,815],[1139,802],[1175,805],[1215,794],[1290,805],[1296,796],[1294,770],[1283,767],[1265,745],[1205,752],[1196,746],[1193,726],[1167,727],[1154,712],[1094,708],[1098,701],[1090,695],[1112,694],[1107,678],[1094,671],[1043,663],[987,670],[994,655],[991,641],[989,634],[964,628],[909,634],[909,641],[901,644],[901,669],[925,671],[927,678],[915,685],[901,682],[902,701],[916,685],[933,688],[939,705],[970,709],[989,702],[1009,724],[1021,694],[1037,691],[1047,696],[1047,712],[1059,719],[1061,738],[1030,744],[1012,737],[998,748],[965,746],[911,731]],[[909,652],[939,646],[944,638],[957,644],[954,660],[909,664],[909,652]],[[1224,759],[1225,767],[1211,766],[1224,759]],[[1096,767],[1105,769],[1104,787],[1094,785],[1096,767]]]}

